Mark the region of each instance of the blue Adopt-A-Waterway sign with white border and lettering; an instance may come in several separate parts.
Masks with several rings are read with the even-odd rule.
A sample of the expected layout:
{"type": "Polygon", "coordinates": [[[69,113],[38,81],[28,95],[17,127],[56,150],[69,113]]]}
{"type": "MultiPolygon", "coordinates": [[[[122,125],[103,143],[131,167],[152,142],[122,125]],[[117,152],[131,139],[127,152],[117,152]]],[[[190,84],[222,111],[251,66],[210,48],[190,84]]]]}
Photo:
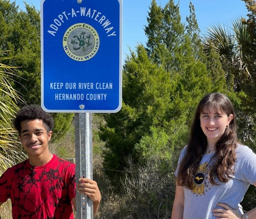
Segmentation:
{"type": "Polygon", "coordinates": [[[42,0],[43,110],[119,111],[121,35],[121,0],[42,0]]]}

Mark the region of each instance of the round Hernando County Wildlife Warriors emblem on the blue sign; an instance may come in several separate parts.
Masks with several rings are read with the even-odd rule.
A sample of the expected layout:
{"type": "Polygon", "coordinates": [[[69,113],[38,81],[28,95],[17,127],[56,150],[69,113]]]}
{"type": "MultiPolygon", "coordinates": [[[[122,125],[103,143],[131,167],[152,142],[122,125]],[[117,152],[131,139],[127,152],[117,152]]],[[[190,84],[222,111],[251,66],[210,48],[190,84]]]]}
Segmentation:
{"type": "Polygon", "coordinates": [[[94,57],[99,46],[99,35],[88,24],[78,23],[70,26],[63,37],[65,53],[76,61],[86,61],[94,57]]]}

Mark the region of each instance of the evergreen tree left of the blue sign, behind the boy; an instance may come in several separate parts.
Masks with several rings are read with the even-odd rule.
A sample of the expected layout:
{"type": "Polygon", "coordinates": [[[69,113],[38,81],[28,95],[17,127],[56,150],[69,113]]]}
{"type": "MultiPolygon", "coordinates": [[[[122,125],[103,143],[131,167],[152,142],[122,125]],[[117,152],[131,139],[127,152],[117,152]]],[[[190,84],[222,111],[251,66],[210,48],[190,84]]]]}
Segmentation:
{"type": "MultiPolygon", "coordinates": [[[[26,3],[25,7],[26,11],[19,11],[15,2],[0,0],[0,50],[8,50],[13,57],[4,59],[3,64],[19,67],[14,70],[12,86],[26,104],[40,105],[40,12],[26,3]]],[[[19,107],[23,105],[18,103],[19,107]]],[[[71,127],[73,114],[53,114],[53,117],[56,124],[53,140],[57,140],[71,127]]]]}

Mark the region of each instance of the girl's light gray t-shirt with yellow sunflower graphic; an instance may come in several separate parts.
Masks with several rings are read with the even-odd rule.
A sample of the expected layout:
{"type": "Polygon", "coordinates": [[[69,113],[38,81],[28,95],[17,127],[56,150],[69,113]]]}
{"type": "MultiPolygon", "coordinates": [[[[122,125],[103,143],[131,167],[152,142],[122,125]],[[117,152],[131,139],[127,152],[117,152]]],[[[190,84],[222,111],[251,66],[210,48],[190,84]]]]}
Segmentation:
{"type": "MultiPolygon", "coordinates": [[[[186,147],[181,151],[179,163],[186,152],[186,147]]],[[[220,185],[212,185],[208,180],[207,167],[211,164],[211,157],[214,154],[205,154],[200,161],[196,175],[194,176],[193,190],[184,187],[184,213],[183,219],[212,219],[212,209],[221,208],[216,206],[218,202],[229,205],[232,209],[238,209],[242,213],[242,206],[239,204],[243,200],[250,184],[256,182],[256,154],[248,148],[238,144],[237,159],[235,162],[234,175],[227,183],[222,183],[216,177],[215,181],[220,185]],[[209,163],[210,162],[210,163],[209,163]]]]}

